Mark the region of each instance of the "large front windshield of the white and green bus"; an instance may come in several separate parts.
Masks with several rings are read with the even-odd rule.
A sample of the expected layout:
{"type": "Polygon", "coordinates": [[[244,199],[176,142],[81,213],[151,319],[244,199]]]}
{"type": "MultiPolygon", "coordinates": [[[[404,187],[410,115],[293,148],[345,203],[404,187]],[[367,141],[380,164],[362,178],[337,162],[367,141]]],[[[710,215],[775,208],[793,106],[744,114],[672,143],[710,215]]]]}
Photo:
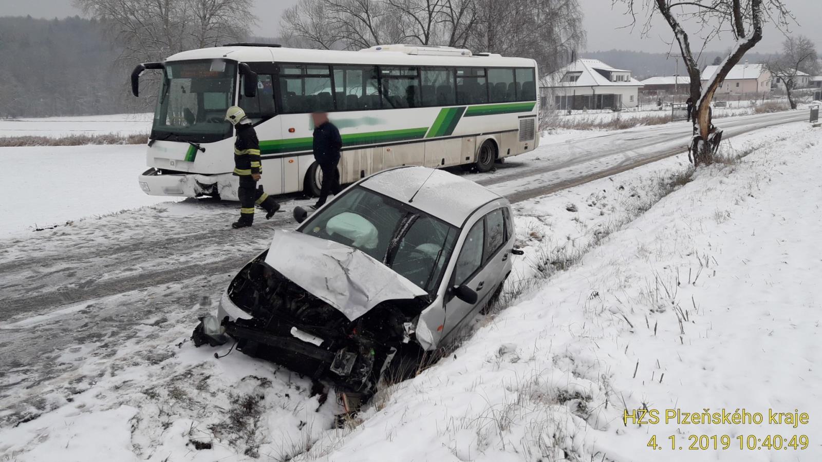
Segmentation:
{"type": "Polygon", "coordinates": [[[212,142],[231,136],[224,117],[236,76],[236,64],[219,59],[167,63],[151,139],[212,142]]]}

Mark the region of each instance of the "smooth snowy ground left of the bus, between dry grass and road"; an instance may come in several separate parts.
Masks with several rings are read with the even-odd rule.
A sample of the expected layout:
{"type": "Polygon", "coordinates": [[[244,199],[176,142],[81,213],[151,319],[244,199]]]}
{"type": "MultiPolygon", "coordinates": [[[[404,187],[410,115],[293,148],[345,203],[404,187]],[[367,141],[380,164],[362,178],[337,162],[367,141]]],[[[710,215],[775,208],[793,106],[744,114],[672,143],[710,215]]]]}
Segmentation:
{"type": "Polygon", "coordinates": [[[25,172],[3,181],[0,237],[173,201],[142,192],[145,169],[141,145],[0,147],[0,171],[25,172]]]}

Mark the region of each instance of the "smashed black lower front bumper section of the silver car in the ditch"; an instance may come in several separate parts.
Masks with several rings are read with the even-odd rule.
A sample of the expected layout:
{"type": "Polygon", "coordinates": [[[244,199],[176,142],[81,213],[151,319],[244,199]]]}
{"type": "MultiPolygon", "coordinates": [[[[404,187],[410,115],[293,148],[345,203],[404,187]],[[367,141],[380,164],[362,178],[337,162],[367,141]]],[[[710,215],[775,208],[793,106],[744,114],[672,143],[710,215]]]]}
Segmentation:
{"type": "Polygon", "coordinates": [[[355,339],[323,340],[316,345],[286,333],[274,333],[255,320],[224,321],[225,333],[237,340],[237,349],[254,358],[278,363],[316,380],[330,381],[341,390],[370,393],[391,354],[375,351],[355,339]],[[374,365],[381,367],[375,370],[374,365]]]}

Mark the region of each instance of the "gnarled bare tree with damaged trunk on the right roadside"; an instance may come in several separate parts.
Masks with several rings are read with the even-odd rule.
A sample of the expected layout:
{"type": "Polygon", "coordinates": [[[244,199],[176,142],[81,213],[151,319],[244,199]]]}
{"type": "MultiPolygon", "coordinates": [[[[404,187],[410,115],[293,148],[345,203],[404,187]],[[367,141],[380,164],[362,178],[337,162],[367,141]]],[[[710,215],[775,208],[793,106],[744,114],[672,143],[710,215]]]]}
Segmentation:
{"type": "Polygon", "coordinates": [[[695,165],[710,164],[722,138],[722,132],[713,126],[711,118],[713,94],[742,56],[760,42],[765,22],[787,25],[787,21],[792,19],[784,0],[612,1],[626,3],[632,15],[644,6],[649,12],[646,32],[650,18],[656,15],[662,16],[671,28],[690,76],[690,97],[695,102],[694,141],[690,149],[692,160],[695,165]],[[732,35],[736,40],[730,53],[718,65],[717,72],[704,86],[700,81],[699,55],[694,53],[692,37],[686,32],[686,25],[695,30],[695,36],[701,34],[703,42],[697,52],[704,50],[706,44],[721,35],[732,35]]]}

